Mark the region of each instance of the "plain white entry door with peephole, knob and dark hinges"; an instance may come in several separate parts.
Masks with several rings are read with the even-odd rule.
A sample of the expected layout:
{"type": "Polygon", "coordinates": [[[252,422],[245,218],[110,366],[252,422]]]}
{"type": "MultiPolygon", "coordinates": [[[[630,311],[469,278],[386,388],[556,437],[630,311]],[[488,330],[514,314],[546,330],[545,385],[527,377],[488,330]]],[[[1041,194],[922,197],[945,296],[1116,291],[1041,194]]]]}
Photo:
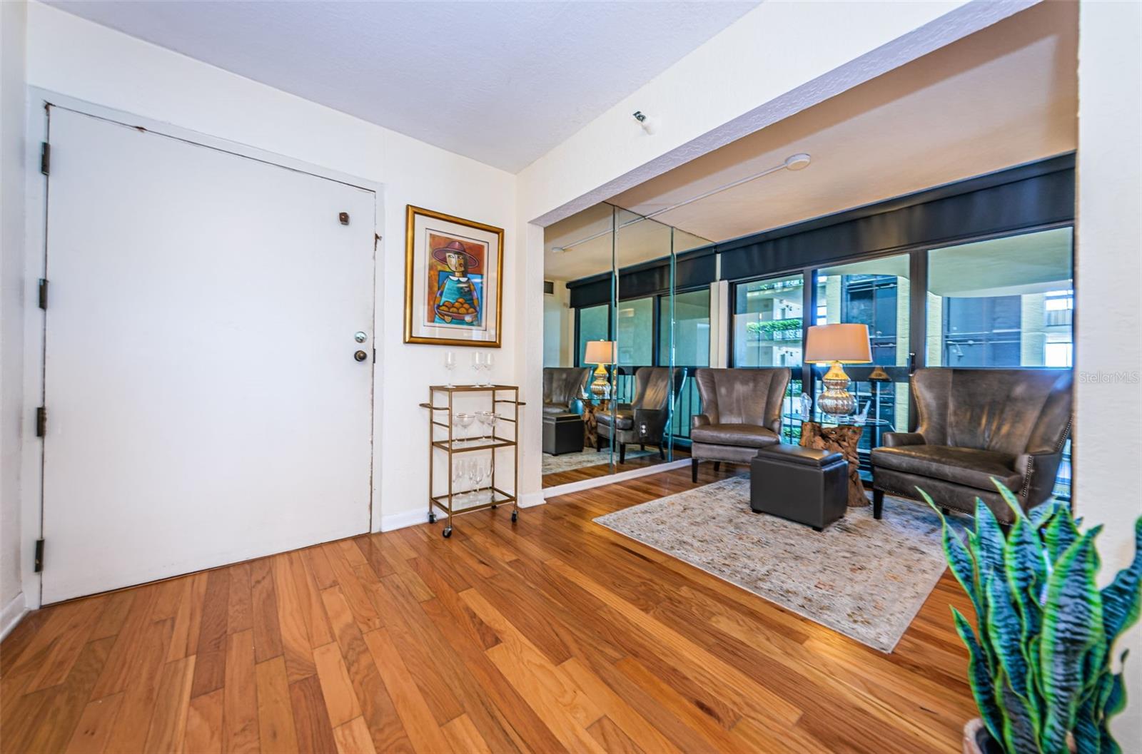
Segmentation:
{"type": "Polygon", "coordinates": [[[49,129],[43,601],[367,532],[375,193],[49,129]]]}

